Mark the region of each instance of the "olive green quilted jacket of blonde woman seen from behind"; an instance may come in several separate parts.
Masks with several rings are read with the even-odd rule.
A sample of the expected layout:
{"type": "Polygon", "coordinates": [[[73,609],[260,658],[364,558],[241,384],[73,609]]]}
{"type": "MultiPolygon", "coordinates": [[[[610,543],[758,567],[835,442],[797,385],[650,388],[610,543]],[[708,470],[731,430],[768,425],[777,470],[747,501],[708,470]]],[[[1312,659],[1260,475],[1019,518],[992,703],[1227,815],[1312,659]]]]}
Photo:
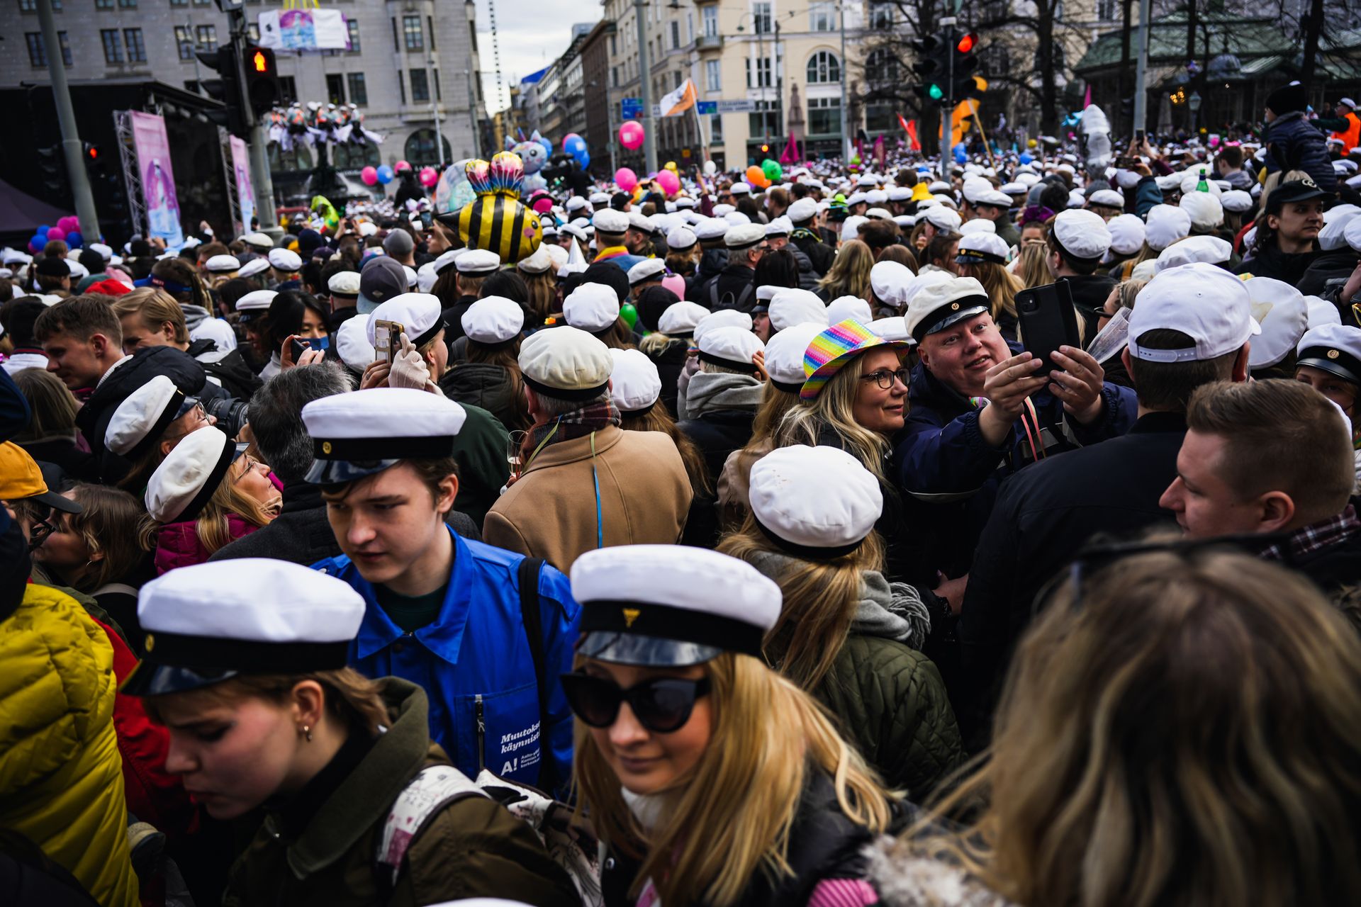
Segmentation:
{"type": "Polygon", "coordinates": [[[885,783],[913,802],[965,761],[940,672],[901,642],[852,628],[813,695],[885,783]]]}

